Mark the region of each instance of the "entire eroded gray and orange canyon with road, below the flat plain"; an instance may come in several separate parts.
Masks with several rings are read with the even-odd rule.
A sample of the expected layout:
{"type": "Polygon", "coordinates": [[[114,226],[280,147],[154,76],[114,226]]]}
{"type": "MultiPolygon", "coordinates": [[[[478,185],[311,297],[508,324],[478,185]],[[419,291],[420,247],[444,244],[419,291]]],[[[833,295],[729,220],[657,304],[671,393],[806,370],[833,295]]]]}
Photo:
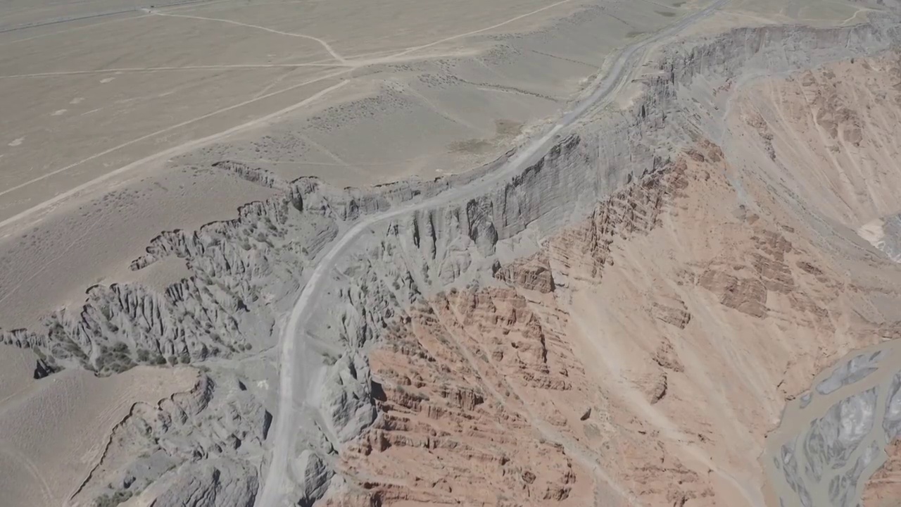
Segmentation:
{"type": "MultiPolygon", "coordinates": [[[[339,188],[214,161],[263,198],[159,233],[129,263],[138,281],[3,331],[4,436],[27,426],[23,392],[173,377],[105,415],[85,474],[27,466],[11,481],[36,493],[4,490],[893,504],[901,10],[866,8],[724,26],[739,11],[706,5],[624,45],[531,142],[473,171],[339,188]]],[[[50,431],[4,450],[33,465],[50,431]]]]}

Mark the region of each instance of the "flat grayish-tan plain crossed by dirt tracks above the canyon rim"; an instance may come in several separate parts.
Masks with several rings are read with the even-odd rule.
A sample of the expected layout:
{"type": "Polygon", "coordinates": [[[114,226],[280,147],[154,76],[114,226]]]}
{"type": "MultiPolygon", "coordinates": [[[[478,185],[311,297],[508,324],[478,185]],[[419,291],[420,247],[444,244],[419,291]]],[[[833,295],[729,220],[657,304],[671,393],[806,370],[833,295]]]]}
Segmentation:
{"type": "Polygon", "coordinates": [[[0,32],[0,327],[123,279],[160,231],[267,195],[194,168],[243,161],[341,186],[468,171],[556,114],[609,51],[696,8],[483,4],[226,1],[96,18],[134,5],[5,5],[17,28],[0,32]]]}

